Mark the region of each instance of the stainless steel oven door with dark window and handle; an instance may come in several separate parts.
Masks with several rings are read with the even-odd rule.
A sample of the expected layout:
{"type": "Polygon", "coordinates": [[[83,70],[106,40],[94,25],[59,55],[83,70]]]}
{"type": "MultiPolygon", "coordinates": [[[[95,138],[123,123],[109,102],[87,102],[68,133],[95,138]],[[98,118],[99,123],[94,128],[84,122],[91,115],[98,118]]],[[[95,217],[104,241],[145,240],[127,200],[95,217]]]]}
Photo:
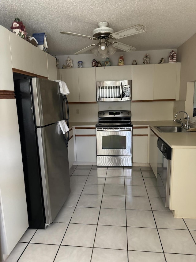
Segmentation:
{"type": "Polygon", "coordinates": [[[97,127],[97,156],[132,156],[132,127],[97,127]]]}

